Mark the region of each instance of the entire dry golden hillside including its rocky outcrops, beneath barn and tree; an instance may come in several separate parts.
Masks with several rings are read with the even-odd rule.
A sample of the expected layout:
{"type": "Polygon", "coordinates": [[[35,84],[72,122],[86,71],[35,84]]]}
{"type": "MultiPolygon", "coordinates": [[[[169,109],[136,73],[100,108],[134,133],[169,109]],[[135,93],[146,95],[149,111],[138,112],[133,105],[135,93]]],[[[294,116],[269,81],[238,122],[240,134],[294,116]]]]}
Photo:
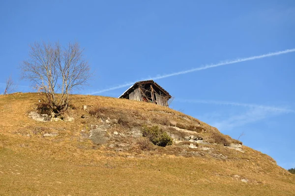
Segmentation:
{"type": "Polygon", "coordinates": [[[64,120],[38,122],[28,116],[38,94],[0,96],[0,195],[295,195],[294,174],[197,119],[151,103],[71,98],[64,120]],[[143,125],[173,145],[143,150],[143,125]]]}

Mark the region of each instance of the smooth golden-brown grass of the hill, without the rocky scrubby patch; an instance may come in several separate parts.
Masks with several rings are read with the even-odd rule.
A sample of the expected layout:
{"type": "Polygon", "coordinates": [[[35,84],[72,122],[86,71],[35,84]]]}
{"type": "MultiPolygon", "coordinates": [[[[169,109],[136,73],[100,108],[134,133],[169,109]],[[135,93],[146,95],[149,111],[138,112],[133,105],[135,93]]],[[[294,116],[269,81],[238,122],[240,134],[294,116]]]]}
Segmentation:
{"type": "MultiPolygon", "coordinates": [[[[1,195],[295,195],[295,175],[248,147],[240,153],[216,145],[216,153],[228,159],[215,159],[207,155],[177,156],[170,153],[173,147],[162,149],[164,153],[160,153],[161,149],[113,152],[104,146],[93,149],[89,140],[79,139],[80,131],[95,123],[95,119],[85,122],[80,118],[84,104],[147,116],[152,115],[151,111],[165,111],[174,114],[170,121],[185,116],[172,109],[76,95],[73,103],[77,109],[71,114],[74,122],[36,122],[27,113],[34,110],[37,100],[37,94],[0,96],[1,195]],[[35,131],[40,127],[59,135],[43,137],[35,131]],[[248,183],[241,182],[242,178],[248,183]]],[[[208,132],[216,131],[201,123],[208,132]]]]}

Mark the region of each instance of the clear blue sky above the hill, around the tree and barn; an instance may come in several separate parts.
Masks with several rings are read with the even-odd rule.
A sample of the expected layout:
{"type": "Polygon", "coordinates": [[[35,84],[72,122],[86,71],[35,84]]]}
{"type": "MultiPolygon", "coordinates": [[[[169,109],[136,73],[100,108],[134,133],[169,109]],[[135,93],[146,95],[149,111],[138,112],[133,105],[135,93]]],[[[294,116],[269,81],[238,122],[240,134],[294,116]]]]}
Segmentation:
{"type": "MultiPolygon", "coordinates": [[[[0,1],[0,92],[34,41],[78,41],[95,77],[81,94],[295,48],[293,0],[0,1]]],[[[155,81],[171,107],[295,167],[295,52],[155,81]]],[[[110,88],[114,88],[110,90],[110,88]]],[[[108,91],[106,91],[108,90],[108,91]]],[[[98,93],[97,93],[98,92],[98,93]]]]}

